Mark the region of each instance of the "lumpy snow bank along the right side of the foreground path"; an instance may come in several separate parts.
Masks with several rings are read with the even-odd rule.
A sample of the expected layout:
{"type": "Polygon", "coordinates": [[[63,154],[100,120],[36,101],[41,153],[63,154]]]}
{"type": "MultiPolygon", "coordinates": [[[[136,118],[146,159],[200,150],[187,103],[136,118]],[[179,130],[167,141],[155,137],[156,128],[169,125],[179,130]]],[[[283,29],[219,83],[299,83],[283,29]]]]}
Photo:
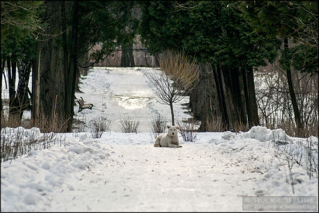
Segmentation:
{"type": "Polygon", "coordinates": [[[255,195],[317,196],[318,177],[315,173],[311,179],[308,176],[310,164],[318,166],[318,138],[315,136],[293,138],[282,129],[254,126],[237,135],[224,132],[221,139],[213,138],[208,143],[238,162],[254,165],[250,172],[262,175],[255,195]],[[308,160],[309,152],[312,163],[308,160]]]}

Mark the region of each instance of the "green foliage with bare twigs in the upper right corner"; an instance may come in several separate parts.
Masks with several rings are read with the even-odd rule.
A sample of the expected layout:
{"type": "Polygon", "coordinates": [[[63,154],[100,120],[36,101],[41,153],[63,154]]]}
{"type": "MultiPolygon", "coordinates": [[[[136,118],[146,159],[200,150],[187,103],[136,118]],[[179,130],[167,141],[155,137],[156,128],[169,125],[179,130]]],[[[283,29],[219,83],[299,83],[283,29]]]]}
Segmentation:
{"type": "Polygon", "coordinates": [[[280,40],[293,39],[293,47],[282,51],[284,69],[318,72],[318,3],[316,1],[242,1],[240,10],[259,33],[280,40]]]}

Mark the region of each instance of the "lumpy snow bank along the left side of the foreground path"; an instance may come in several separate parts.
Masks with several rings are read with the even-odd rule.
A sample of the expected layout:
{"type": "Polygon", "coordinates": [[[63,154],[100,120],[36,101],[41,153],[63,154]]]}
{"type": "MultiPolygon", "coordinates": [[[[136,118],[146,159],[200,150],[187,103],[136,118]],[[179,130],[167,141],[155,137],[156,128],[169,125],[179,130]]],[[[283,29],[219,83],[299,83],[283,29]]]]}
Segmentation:
{"type": "MultiPolygon", "coordinates": [[[[4,131],[23,132],[24,140],[41,136],[34,129],[7,128],[4,131]]],[[[58,196],[56,186],[67,185],[73,191],[76,186],[72,180],[81,178],[76,176],[76,171],[102,164],[108,156],[106,148],[101,148],[97,141],[84,133],[78,139],[67,138],[65,148],[30,151],[12,162],[2,163],[1,211],[33,211],[38,202],[49,205],[52,197],[58,196]]]]}

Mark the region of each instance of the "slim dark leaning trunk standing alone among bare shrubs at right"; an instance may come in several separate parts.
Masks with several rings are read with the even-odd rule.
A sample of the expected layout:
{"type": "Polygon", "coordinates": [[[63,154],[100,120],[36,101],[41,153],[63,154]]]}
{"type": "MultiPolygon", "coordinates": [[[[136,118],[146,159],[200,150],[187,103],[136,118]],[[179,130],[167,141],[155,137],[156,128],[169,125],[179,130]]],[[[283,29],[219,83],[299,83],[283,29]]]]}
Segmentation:
{"type": "MultiPolygon", "coordinates": [[[[284,49],[288,50],[288,38],[284,39],[284,49]]],[[[284,51],[284,52],[285,52],[285,54],[287,54],[287,51],[284,51]]],[[[291,98],[291,103],[293,104],[293,113],[294,113],[295,121],[296,121],[296,130],[297,130],[296,133],[297,133],[297,136],[299,136],[302,129],[303,129],[303,124],[301,122],[301,117],[300,117],[300,113],[299,113],[296,95],[295,95],[295,92],[293,90],[293,80],[291,77],[290,68],[286,68],[286,73],[287,73],[289,94],[290,94],[290,98],[291,98]]]]}

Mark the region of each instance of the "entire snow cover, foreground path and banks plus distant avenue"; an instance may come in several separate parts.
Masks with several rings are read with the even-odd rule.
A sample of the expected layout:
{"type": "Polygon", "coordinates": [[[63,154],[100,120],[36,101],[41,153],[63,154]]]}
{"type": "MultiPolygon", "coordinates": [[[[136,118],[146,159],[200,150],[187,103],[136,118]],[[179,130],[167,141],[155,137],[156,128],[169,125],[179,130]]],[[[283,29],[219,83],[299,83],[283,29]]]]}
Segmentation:
{"type": "MultiPolygon", "coordinates": [[[[198,133],[195,142],[179,133],[182,148],[153,147],[146,118],[170,111],[156,102],[139,69],[94,68],[83,80],[84,93],[76,97],[94,106],[79,116],[85,113],[88,123],[104,110],[112,119],[101,138],[87,131],[54,138],[37,128],[1,131],[1,142],[51,144],[1,163],[1,211],[242,211],[242,196],[257,195],[317,196],[318,210],[318,175],[309,178],[307,170],[318,166],[317,137],[255,126],[246,133],[198,133]],[[119,132],[119,109],[140,120],[140,133],[119,132]]],[[[186,115],[183,101],[175,104],[179,119],[186,115]]]]}

